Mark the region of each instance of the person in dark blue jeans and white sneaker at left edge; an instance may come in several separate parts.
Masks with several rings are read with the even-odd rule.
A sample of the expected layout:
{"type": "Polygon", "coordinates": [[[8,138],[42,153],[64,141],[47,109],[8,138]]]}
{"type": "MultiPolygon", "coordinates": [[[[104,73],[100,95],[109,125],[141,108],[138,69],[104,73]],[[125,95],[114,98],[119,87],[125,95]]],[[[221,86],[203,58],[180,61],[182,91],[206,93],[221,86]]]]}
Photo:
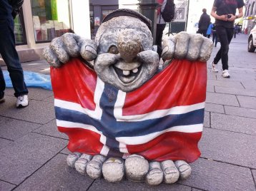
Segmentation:
{"type": "MultiPolygon", "coordinates": [[[[29,93],[24,82],[24,73],[19,62],[19,56],[15,48],[14,18],[11,15],[12,6],[9,0],[0,1],[0,53],[14,86],[14,96],[17,98],[16,107],[23,108],[29,105],[29,93]]],[[[0,103],[4,102],[4,90],[6,83],[0,68],[0,103]]]]}

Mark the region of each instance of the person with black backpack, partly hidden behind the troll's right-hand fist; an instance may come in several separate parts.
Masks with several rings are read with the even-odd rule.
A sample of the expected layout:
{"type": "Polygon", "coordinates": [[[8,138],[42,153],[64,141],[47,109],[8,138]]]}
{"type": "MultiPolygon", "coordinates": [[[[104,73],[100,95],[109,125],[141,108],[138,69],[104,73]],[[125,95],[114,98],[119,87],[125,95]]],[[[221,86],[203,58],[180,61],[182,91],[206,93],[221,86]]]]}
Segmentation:
{"type": "Polygon", "coordinates": [[[166,22],[162,18],[161,12],[164,11],[164,7],[167,3],[167,0],[157,0],[159,7],[157,9],[157,34],[156,34],[156,44],[160,48],[162,48],[162,35],[164,28],[166,26],[166,22]]]}

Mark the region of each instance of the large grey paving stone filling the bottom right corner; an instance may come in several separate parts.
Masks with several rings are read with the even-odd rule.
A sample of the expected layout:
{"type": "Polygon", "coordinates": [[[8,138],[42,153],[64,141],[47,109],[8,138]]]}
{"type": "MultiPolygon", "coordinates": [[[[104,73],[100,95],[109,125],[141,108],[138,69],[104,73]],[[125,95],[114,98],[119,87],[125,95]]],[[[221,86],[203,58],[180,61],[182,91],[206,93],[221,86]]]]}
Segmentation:
{"type": "Polygon", "coordinates": [[[192,175],[182,185],[202,190],[255,190],[249,168],[199,159],[191,164],[192,175]]]}

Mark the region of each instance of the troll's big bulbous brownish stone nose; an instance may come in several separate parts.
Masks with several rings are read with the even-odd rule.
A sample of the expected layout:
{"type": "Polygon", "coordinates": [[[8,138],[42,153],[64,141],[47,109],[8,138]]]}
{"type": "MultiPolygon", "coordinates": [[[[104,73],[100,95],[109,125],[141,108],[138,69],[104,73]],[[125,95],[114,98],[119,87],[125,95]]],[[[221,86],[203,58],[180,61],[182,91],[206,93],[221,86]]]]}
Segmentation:
{"type": "Polygon", "coordinates": [[[133,29],[122,31],[117,39],[117,48],[124,61],[132,62],[142,46],[139,35],[133,29]]]}

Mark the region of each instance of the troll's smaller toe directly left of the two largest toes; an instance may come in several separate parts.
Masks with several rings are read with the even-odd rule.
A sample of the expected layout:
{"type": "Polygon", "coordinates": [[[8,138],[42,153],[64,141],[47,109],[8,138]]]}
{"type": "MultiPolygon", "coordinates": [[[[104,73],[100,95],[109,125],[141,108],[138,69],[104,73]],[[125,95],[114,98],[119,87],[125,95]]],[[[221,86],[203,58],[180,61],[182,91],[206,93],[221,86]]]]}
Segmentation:
{"type": "Polygon", "coordinates": [[[87,175],[93,179],[102,177],[102,164],[106,158],[102,155],[95,155],[87,164],[87,175]]]}

